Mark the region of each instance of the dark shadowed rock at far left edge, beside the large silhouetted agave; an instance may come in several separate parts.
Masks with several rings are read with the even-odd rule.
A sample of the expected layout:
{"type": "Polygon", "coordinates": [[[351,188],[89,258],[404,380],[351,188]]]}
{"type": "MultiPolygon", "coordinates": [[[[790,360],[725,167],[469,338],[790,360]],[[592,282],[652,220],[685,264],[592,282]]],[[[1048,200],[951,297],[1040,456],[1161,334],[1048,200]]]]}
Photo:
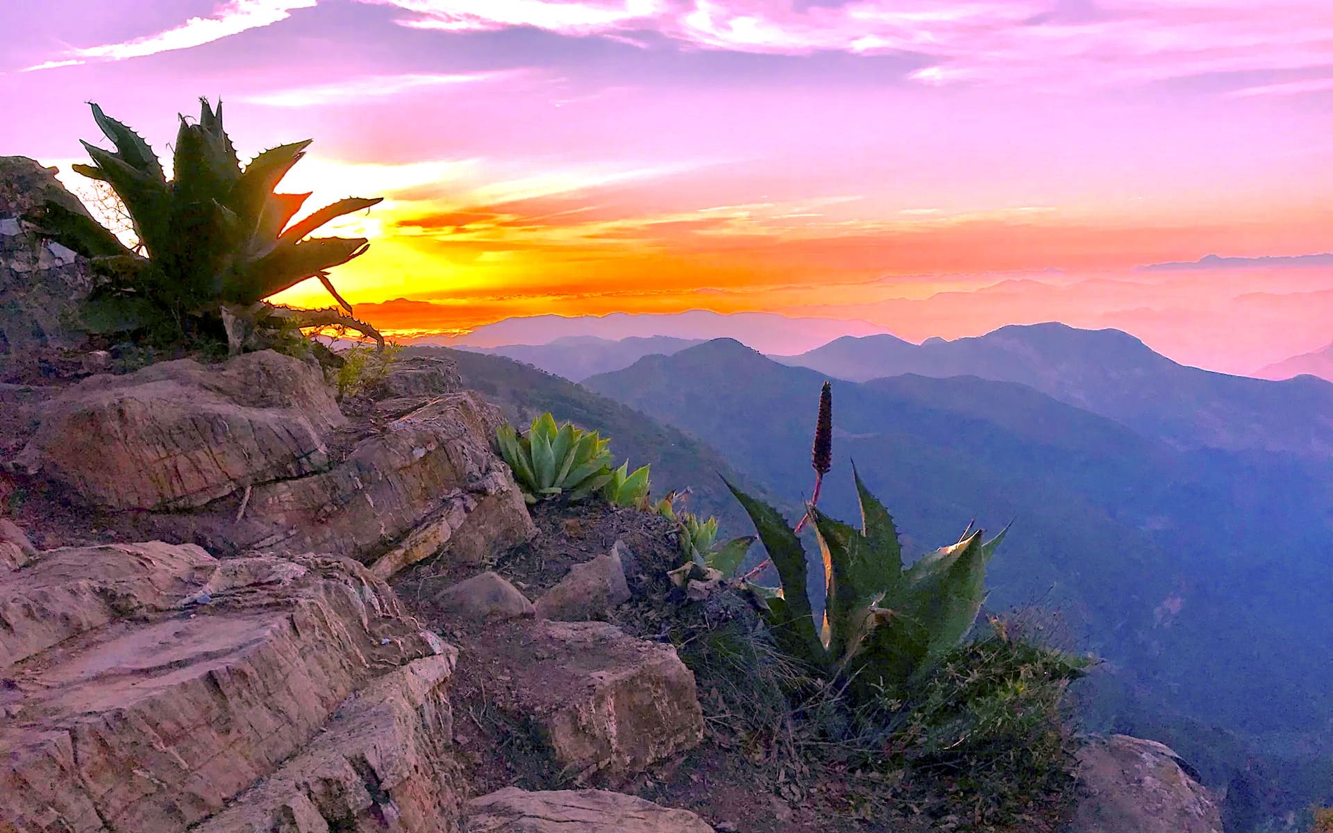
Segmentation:
{"type": "Polygon", "coordinates": [[[23,156],[0,156],[0,371],[47,348],[76,347],[85,333],[79,304],[92,288],[88,261],[35,233],[24,216],[45,200],[87,209],[44,168],[23,156]]]}

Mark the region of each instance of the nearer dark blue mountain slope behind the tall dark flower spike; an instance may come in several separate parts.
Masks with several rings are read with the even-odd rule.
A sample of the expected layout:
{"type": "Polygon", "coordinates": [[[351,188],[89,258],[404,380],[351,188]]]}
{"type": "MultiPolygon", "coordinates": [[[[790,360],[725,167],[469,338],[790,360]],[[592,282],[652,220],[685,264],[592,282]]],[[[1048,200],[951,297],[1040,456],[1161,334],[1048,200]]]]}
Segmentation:
{"type": "MultiPolygon", "coordinates": [[[[718,340],[585,385],[728,449],[738,469],[794,500],[810,485],[822,380],[718,340]]],[[[1221,726],[1256,754],[1292,737],[1306,738],[1297,757],[1328,748],[1328,464],[1182,450],[976,377],[834,384],[833,411],[821,506],[854,516],[854,458],[916,552],[954,540],[973,517],[988,529],[1013,520],[992,564],[992,602],[1065,609],[1084,644],[1120,669],[1102,693],[1156,701],[1102,700],[1102,718],[1125,728],[1160,708],[1221,726]]],[[[1230,777],[1226,762],[1214,769],[1214,785],[1230,777]]]]}

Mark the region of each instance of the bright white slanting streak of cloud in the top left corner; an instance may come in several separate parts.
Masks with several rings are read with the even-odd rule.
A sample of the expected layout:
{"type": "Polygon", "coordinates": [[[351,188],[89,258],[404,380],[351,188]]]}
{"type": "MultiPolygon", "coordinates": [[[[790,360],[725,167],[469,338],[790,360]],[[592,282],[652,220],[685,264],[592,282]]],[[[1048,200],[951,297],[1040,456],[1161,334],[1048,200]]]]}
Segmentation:
{"type": "Polygon", "coordinates": [[[28,67],[28,71],[71,67],[97,60],[120,61],[157,55],[159,52],[191,49],[287,20],[293,11],[313,8],[317,3],[319,0],[231,0],[231,3],[215,9],[209,17],[191,17],[179,27],[164,32],[116,44],[75,48],[60,59],[28,67]]]}

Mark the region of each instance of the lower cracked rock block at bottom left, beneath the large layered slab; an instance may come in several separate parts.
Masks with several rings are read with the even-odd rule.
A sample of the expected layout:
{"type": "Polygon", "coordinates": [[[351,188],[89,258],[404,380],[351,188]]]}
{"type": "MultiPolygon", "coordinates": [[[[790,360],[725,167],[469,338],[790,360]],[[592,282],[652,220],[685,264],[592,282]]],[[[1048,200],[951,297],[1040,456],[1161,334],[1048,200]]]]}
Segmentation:
{"type": "Polygon", "coordinates": [[[341,704],[315,741],[195,833],[440,833],[467,784],[453,762],[455,652],[413,660],[341,704]]]}

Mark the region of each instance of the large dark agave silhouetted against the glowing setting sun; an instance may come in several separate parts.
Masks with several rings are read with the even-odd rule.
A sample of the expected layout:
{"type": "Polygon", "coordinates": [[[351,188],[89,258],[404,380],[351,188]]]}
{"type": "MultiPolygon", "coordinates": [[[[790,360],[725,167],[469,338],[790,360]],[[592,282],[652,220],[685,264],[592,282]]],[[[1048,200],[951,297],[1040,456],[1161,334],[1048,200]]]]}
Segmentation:
{"type": "Polygon", "coordinates": [[[47,203],[35,217],[43,232],[91,257],[103,277],[85,315],[93,332],[171,327],[180,335],[225,333],[233,352],[256,333],[279,327],[343,325],[384,340],[351,317],[351,305],[328,271],[363,255],[363,237],[311,237],[331,220],[375,205],[380,197],[339,200],[292,223],[308,193],[275,188],[311,140],[256,156],[244,168],[223,129],[223,105],[200,99],[197,121],[180,117],[168,180],[161,161],[135,131],[92,105],[93,120],[115,151],[83,143],[91,165],[79,173],[107,183],[124,203],[140,251],[132,251],[84,213],[47,203]],[[316,277],[336,308],[293,311],[263,303],[316,277]]]}

